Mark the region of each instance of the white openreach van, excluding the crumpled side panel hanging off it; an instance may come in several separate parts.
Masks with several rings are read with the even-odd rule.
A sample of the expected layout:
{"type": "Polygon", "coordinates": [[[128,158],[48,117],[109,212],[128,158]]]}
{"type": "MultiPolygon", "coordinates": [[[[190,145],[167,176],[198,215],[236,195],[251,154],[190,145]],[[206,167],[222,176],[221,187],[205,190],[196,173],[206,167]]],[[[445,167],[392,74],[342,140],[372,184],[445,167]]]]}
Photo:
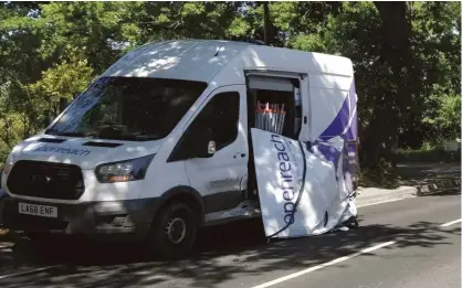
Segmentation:
{"type": "Polygon", "coordinates": [[[230,41],[149,43],[14,147],[1,178],[3,222],[31,238],[127,235],[179,256],[198,227],[259,216],[258,103],[284,105],[285,137],[346,134],[355,166],[350,60],[230,41]]]}

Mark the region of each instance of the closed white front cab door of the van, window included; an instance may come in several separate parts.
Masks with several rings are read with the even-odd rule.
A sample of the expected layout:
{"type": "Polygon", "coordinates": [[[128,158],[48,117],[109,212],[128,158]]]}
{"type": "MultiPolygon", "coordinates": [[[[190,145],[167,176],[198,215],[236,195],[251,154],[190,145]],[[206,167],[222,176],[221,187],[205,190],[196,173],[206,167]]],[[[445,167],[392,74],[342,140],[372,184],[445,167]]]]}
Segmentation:
{"type": "Polygon", "coordinates": [[[190,184],[203,196],[207,214],[233,209],[242,201],[249,161],[245,95],[244,85],[214,90],[191,122],[200,130],[191,143],[203,145],[198,138],[206,130],[216,142],[211,157],[185,161],[190,184]]]}

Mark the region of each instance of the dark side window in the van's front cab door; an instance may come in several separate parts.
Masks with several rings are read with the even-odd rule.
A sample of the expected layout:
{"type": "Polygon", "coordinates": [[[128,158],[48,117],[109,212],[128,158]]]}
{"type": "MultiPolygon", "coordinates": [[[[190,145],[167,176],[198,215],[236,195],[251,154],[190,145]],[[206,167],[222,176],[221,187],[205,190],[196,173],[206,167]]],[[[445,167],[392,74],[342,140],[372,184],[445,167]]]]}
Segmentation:
{"type": "Polygon", "coordinates": [[[234,142],[239,131],[239,107],[238,92],[214,95],[188,127],[169,161],[191,158],[195,148],[203,145],[200,141],[203,138],[216,141],[217,151],[234,142]]]}

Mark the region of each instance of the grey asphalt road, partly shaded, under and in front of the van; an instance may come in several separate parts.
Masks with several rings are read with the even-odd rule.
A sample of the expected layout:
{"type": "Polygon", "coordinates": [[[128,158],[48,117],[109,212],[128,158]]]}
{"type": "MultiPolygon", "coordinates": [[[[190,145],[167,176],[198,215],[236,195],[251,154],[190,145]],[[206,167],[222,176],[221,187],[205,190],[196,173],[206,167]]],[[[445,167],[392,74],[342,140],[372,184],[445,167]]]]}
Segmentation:
{"type": "Polygon", "coordinates": [[[265,243],[258,222],[201,233],[196,255],[145,260],[130,245],[0,244],[0,287],[461,287],[460,194],[359,209],[355,231],[265,243]],[[3,246],[3,248],[1,248],[3,246]],[[43,270],[34,270],[44,268],[43,270]],[[28,275],[11,276],[24,270],[28,275]]]}

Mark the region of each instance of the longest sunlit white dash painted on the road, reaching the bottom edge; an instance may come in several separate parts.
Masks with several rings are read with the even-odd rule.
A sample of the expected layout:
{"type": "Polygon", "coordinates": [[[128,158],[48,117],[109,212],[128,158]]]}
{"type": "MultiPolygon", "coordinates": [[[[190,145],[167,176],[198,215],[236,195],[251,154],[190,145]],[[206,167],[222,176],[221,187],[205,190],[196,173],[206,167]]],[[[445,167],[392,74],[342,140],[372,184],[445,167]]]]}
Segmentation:
{"type": "Polygon", "coordinates": [[[328,267],[328,266],[333,266],[333,265],[335,265],[335,264],[337,264],[337,263],[340,263],[340,262],[344,262],[344,260],[348,260],[348,259],[351,259],[351,258],[358,257],[358,256],[359,256],[359,255],[361,255],[361,254],[370,253],[370,252],[372,252],[372,250],[377,250],[377,249],[384,248],[384,247],[386,247],[386,246],[393,245],[395,243],[396,243],[395,241],[390,241],[390,242],[381,243],[381,244],[378,244],[378,245],[376,245],[376,246],[372,246],[372,247],[369,247],[369,248],[361,249],[361,250],[359,250],[359,252],[357,252],[357,253],[354,253],[354,254],[350,254],[350,255],[348,255],[348,256],[344,256],[344,257],[340,257],[340,258],[334,259],[334,260],[328,262],[328,263],[324,263],[324,264],[321,264],[321,265],[316,265],[316,266],[314,266],[314,267],[311,267],[311,268],[307,268],[307,269],[304,269],[304,270],[301,270],[301,271],[297,271],[297,273],[294,273],[294,274],[290,274],[290,275],[287,275],[287,276],[284,276],[284,277],[281,277],[281,278],[274,279],[274,280],[269,281],[269,282],[264,282],[264,284],[261,284],[261,285],[254,286],[254,287],[252,287],[252,288],[266,288],[266,287],[271,287],[271,286],[274,286],[274,285],[276,285],[276,284],[281,284],[281,282],[284,282],[284,281],[291,280],[291,279],[293,279],[293,278],[296,278],[296,277],[303,276],[303,275],[305,275],[305,274],[308,274],[308,273],[312,273],[312,271],[315,271],[315,270],[318,270],[318,269],[322,269],[322,268],[325,268],[325,267],[328,267]]]}

